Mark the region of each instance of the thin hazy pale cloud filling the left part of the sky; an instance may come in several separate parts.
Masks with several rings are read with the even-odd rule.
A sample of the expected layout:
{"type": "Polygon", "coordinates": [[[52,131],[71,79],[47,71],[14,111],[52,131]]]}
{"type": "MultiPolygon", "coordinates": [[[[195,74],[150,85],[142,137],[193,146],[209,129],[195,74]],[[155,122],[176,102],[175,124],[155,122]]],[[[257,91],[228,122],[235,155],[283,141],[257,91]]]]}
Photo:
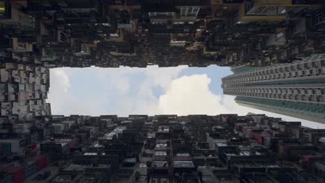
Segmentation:
{"type": "Polygon", "coordinates": [[[51,69],[49,102],[53,114],[156,114],[158,98],[153,87],[163,90],[185,67],[158,68],[60,68],[51,69]],[[137,75],[141,77],[136,77],[137,75]],[[87,75],[85,77],[85,75],[87,75]],[[84,76],[81,78],[81,76],[84,76]],[[90,77],[90,80],[85,80],[90,77]],[[69,81],[78,78],[78,82],[69,81]],[[80,78],[80,81],[79,81],[80,78]],[[138,79],[138,80],[137,80],[138,79]],[[96,84],[88,83],[96,82],[96,84]],[[78,96],[74,92],[83,94],[78,96]],[[83,88],[81,91],[75,88],[83,88]]]}

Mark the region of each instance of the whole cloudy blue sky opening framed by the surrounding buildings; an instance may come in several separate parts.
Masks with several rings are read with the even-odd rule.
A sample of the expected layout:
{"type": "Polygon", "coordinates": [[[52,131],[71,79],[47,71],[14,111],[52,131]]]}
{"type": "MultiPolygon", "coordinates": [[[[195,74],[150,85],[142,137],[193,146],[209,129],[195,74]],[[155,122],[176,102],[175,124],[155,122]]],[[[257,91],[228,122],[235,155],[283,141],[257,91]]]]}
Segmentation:
{"type": "Polygon", "coordinates": [[[263,112],[235,103],[222,94],[228,67],[55,68],[50,70],[47,102],[52,114],[239,114],[248,112],[301,121],[310,128],[324,124],[263,112]]]}

